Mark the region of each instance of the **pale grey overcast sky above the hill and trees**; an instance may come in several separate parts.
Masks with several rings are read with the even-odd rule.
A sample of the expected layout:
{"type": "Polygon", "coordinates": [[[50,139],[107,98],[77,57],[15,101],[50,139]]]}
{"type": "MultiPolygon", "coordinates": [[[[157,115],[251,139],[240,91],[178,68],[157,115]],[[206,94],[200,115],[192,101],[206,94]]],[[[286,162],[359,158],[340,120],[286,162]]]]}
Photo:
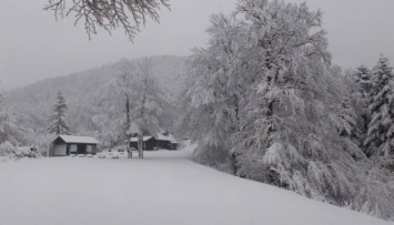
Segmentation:
{"type": "MultiPolygon", "coordinates": [[[[36,81],[115,62],[122,57],[189,55],[204,47],[212,13],[231,12],[236,0],[170,0],[160,24],[149,21],[130,42],[122,30],[99,30],[89,41],[72,18],[55,21],[42,8],[48,0],[0,0],[0,86],[36,81]]],[[[302,2],[303,0],[287,0],[302,2]]],[[[333,62],[343,68],[372,67],[383,53],[394,65],[394,0],[307,0],[324,12],[333,62]]]]}

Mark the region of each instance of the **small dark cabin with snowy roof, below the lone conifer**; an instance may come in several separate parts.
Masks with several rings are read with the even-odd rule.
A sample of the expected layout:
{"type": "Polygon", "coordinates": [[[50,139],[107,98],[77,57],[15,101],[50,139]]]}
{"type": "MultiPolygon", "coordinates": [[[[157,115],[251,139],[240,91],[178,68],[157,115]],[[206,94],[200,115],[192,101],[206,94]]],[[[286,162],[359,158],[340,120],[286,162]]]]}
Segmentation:
{"type": "Polygon", "coordinates": [[[59,135],[52,142],[49,155],[95,154],[98,144],[99,142],[91,136],[59,135]]]}

